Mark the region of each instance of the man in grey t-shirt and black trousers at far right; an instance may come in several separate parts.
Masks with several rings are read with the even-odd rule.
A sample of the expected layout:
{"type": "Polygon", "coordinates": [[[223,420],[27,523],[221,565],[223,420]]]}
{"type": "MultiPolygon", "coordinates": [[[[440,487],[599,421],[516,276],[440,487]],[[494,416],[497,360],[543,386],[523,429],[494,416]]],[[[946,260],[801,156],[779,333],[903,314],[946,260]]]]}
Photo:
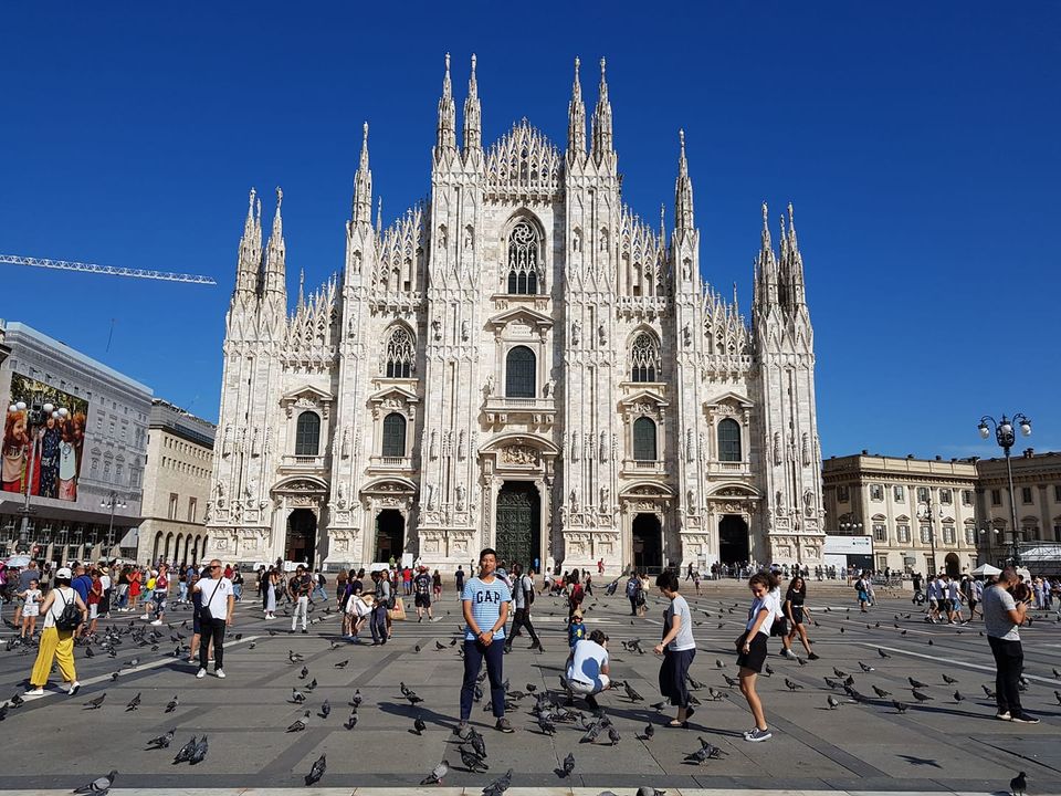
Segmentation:
{"type": "Polygon", "coordinates": [[[998,582],[984,589],[984,627],[995,657],[995,718],[1020,724],[1038,724],[1039,720],[1020,704],[1020,674],[1025,669],[1025,650],[1020,645],[1020,626],[1028,614],[1028,599],[1017,600],[1012,594],[1018,584],[1017,570],[1006,567],[998,582]]]}

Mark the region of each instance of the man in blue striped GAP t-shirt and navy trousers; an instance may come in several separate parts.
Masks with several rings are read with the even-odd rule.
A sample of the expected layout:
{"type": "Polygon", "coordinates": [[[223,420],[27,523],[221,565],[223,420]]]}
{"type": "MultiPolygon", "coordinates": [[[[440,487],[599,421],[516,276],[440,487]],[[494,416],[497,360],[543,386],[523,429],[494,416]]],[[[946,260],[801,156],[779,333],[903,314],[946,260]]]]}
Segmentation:
{"type": "Polygon", "coordinates": [[[490,547],[479,554],[479,577],[471,578],[461,594],[464,610],[464,684],[461,685],[461,723],[456,734],[468,735],[468,720],[472,715],[472,699],[475,679],[486,659],[486,675],[490,679],[490,701],[494,709],[496,727],[513,732],[505,719],[505,687],[503,662],[505,659],[505,622],[508,620],[508,603],[512,593],[508,585],[495,574],[497,555],[490,547]]]}

